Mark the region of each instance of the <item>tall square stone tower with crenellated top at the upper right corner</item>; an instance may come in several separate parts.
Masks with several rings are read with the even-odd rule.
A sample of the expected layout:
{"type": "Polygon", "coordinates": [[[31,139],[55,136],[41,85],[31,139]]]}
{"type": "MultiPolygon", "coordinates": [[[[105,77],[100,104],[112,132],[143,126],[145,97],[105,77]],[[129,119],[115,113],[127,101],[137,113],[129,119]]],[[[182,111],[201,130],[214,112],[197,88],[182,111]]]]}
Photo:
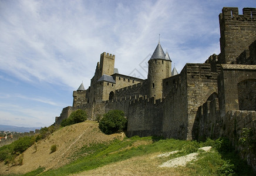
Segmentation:
{"type": "Polygon", "coordinates": [[[223,8],[219,15],[220,48],[218,63],[235,63],[236,58],[256,40],[256,8],[223,8]]]}

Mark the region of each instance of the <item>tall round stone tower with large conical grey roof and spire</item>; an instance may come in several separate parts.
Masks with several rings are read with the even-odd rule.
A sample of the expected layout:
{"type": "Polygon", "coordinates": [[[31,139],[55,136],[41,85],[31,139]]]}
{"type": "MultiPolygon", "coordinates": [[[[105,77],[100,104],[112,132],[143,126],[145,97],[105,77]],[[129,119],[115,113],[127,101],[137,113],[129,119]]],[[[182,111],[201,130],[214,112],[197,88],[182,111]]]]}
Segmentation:
{"type": "Polygon", "coordinates": [[[160,43],[158,43],[148,63],[149,97],[160,99],[163,94],[163,79],[171,76],[171,59],[168,52],[164,53],[160,43]]]}

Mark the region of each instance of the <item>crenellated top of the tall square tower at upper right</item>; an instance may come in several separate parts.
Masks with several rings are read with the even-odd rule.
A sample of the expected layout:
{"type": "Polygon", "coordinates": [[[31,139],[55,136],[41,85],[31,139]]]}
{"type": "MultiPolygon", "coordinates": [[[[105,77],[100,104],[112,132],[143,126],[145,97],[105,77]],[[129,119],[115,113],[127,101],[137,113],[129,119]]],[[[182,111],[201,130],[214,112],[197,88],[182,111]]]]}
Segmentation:
{"type": "Polygon", "coordinates": [[[243,8],[239,15],[238,8],[224,7],[219,15],[220,21],[256,21],[256,8],[243,8]]]}

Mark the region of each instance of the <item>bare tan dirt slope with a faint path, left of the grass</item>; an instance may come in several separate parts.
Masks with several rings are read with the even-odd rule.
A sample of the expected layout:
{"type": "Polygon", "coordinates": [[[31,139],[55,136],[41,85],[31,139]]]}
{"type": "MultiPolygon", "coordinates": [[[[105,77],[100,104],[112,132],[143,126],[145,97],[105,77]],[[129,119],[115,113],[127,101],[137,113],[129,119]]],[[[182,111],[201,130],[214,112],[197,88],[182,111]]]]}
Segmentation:
{"type": "Polygon", "coordinates": [[[72,126],[61,128],[51,134],[44,140],[32,145],[23,154],[23,165],[12,166],[0,163],[0,175],[10,173],[26,173],[36,170],[39,166],[45,167],[46,170],[59,168],[70,162],[70,155],[83,145],[90,143],[102,143],[114,138],[123,138],[124,134],[103,134],[95,121],[85,121],[72,126]],[[57,145],[57,150],[50,153],[50,147],[57,145]]]}

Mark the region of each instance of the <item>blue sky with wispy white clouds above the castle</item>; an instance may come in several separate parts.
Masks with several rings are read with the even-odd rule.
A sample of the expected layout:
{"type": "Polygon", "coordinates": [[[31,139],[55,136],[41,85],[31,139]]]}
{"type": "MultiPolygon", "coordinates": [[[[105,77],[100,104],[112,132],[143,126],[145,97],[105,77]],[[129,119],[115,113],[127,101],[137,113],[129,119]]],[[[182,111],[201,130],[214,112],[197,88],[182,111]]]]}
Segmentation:
{"type": "Polygon", "coordinates": [[[146,79],[159,33],[178,72],[203,63],[220,53],[224,6],[242,14],[256,2],[0,0],[0,124],[53,124],[102,52],[116,55],[119,73],[146,79]]]}

